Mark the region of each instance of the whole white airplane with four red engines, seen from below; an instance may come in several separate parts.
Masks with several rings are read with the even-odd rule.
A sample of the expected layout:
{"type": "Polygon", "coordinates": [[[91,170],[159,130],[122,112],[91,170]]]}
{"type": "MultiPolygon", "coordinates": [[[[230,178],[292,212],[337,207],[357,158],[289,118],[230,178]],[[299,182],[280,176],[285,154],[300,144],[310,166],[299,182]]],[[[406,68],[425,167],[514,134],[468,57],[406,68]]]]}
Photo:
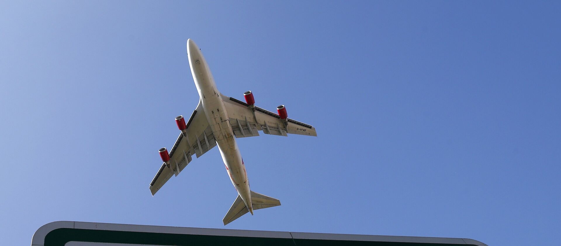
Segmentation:
{"type": "Polygon", "coordinates": [[[318,136],[314,127],[288,118],[286,107],[277,107],[277,113],[255,106],[251,91],[243,93],[245,102],[224,96],[217,89],[209,65],[199,47],[192,39],[187,40],[187,56],[195,86],[199,92],[199,105],[185,122],[180,115],[176,123],[181,134],[168,153],[166,148],[159,149],[163,164],[150,183],[152,196],[162,188],[173,175],[177,175],[192,160],[218,145],[226,172],[238,192],[238,196],[226,216],[224,225],[238,217],[257,209],[279,206],[280,201],[273,197],[250,190],[245,164],[243,163],[236,138],[264,134],[288,136],[288,134],[318,136]]]}

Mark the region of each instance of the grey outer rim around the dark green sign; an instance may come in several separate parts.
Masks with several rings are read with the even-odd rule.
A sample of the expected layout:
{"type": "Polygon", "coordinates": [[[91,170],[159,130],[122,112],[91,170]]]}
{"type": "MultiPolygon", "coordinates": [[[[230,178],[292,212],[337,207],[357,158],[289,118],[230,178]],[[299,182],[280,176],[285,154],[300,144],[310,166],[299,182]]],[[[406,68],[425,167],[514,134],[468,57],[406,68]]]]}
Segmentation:
{"type": "Polygon", "coordinates": [[[215,236],[246,236],[258,238],[292,238],[292,239],[323,239],[323,240],[353,240],[353,241],[375,241],[375,242],[403,242],[403,243],[442,243],[442,244],[473,244],[488,246],[477,240],[468,238],[434,238],[425,236],[383,236],[383,235],[360,235],[360,234],[332,234],[332,233],[294,233],[288,231],[260,231],[260,230],[236,230],[236,229],[212,229],[191,228],[159,225],[131,225],[94,223],[81,221],[54,221],[41,226],[33,234],[31,246],[44,246],[45,236],[50,231],[60,228],[112,230],[112,231],[136,231],[145,233],[171,233],[191,235],[215,235],[215,236]]]}

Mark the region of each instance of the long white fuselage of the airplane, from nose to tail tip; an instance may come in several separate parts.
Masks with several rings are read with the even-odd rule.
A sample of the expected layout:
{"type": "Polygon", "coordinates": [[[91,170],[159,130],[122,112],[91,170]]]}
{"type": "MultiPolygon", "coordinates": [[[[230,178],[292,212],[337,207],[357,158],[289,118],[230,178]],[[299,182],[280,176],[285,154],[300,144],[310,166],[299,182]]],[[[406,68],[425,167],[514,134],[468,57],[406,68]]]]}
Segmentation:
{"type": "Polygon", "coordinates": [[[253,214],[251,191],[240,149],[229,123],[228,112],[222,101],[214,78],[199,47],[191,39],[187,40],[187,55],[191,74],[199,92],[209,125],[216,139],[220,155],[226,165],[233,186],[238,191],[247,209],[253,214]]]}

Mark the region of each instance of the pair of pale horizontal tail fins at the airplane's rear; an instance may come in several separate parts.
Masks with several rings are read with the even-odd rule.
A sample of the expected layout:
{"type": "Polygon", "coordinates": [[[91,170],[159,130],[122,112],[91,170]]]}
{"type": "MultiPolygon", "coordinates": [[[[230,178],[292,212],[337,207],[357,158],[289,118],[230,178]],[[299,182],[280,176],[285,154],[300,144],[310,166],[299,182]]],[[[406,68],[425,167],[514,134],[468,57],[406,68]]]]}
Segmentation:
{"type": "MultiPolygon", "coordinates": [[[[280,201],[278,199],[265,196],[263,194],[254,191],[251,191],[251,203],[253,205],[252,206],[253,210],[265,209],[266,207],[280,206],[280,201]]],[[[247,214],[247,212],[249,212],[249,209],[243,202],[242,197],[238,195],[236,201],[234,201],[234,203],[230,207],[230,210],[228,210],[226,216],[224,216],[222,222],[224,222],[224,225],[226,225],[228,223],[231,223],[235,219],[241,217],[242,215],[247,214]]]]}

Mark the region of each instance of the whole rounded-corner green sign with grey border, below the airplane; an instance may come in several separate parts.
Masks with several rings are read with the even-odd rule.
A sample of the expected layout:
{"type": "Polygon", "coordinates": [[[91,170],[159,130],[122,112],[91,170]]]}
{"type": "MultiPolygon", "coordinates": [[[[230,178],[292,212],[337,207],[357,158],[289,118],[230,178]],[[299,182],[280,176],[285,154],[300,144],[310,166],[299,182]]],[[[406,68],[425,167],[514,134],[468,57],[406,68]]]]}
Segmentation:
{"type": "Polygon", "coordinates": [[[487,246],[473,239],[252,231],[56,221],[39,228],[31,246],[268,245],[487,246]]]}

